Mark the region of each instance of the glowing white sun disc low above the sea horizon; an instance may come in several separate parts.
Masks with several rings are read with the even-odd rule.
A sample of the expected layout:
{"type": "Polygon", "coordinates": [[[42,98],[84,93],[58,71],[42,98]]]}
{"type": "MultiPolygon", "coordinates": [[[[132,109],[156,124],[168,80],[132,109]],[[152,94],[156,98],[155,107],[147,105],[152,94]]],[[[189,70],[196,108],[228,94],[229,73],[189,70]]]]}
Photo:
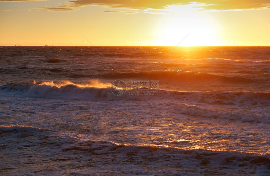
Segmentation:
{"type": "Polygon", "coordinates": [[[156,29],[157,46],[216,46],[218,24],[203,12],[167,15],[156,29]]]}

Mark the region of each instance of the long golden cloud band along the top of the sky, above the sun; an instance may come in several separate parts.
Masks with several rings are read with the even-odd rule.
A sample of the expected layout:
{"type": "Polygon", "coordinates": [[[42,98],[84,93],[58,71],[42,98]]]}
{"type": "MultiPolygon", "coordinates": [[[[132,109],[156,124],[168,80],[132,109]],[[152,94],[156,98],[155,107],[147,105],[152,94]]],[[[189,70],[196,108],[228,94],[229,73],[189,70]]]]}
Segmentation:
{"type": "MultiPolygon", "coordinates": [[[[6,2],[43,0],[0,0],[6,2]]],[[[103,6],[118,8],[109,13],[179,13],[185,11],[225,11],[270,8],[269,0],[73,0],[56,7],[45,7],[45,11],[77,11],[78,7],[103,6]],[[120,10],[119,10],[120,9],[120,10]],[[124,9],[124,10],[123,10],[124,9]],[[126,11],[128,10],[128,12],[126,11]]]]}

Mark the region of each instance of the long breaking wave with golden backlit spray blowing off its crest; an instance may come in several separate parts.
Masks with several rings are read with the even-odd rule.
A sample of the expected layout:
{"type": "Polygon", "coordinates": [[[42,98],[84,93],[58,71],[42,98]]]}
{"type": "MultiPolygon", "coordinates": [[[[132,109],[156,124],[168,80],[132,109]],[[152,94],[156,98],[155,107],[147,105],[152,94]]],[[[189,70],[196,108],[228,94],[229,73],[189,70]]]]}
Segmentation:
{"type": "MultiPolygon", "coordinates": [[[[182,73],[181,73],[182,74],[182,73]]],[[[183,73],[185,74],[185,73],[183,73]]],[[[24,96],[44,97],[44,98],[66,98],[66,99],[82,99],[91,100],[92,98],[100,98],[100,100],[118,99],[143,99],[142,96],[132,96],[131,92],[135,89],[129,89],[123,96],[115,96],[111,91],[111,83],[104,83],[98,79],[92,79],[86,84],[76,84],[71,81],[60,81],[54,83],[42,82],[23,86],[0,86],[1,91],[19,92],[24,96]],[[118,99],[117,99],[118,97],[118,99]]],[[[139,90],[136,90],[139,91],[139,90]]],[[[147,96],[153,99],[168,99],[177,100],[181,102],[188,101],[189,103],[204,103],[209,105],[246,105],[246,106],[269,106],[270,93],[269,92],[223,92],[223,91],[209,91],[209,92],[183,92],[183,91],[166,91],[160,89],[150,89],[143,91],[156,91],[156,94],[147,96]]]]}

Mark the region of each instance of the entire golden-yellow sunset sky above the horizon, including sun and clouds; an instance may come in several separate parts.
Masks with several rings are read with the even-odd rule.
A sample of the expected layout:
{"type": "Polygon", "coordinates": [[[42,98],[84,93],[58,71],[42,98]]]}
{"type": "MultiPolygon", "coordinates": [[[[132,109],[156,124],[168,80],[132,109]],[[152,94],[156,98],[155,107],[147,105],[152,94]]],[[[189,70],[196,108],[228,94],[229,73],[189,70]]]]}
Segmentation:
{"type": "Polygon", "coordinates": [[[269,46],[270,0],[0,0],[0,26],[0,45],[269,46]]]}

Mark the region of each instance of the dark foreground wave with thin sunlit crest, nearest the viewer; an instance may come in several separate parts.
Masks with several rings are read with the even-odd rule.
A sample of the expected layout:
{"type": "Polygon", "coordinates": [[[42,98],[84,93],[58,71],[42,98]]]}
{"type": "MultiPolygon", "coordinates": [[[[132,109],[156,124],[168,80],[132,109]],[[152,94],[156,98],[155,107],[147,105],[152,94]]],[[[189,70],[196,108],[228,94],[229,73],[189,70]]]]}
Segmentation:
{"type": "MultiPolygon", "coordinates": [[[[68,136],[62,132],[27,126],[0,126],[1,153],[12,161],[38,163],[35,170],[21,168],[20,174],[40,174],[50,164],[50,173],[65,174],[65,166],[74,167],[73,174],[91,173],[103,175],[115,171],[126,175],[144,174],[216,174],[227,173],[267,175],[270,169],[269,153],[184,149],[158,145],[132,145],[111,141],[87,140],[68,136]],[[31,133],[31,131],[36,131],[31,133]],[[42,132],[46,130],[46,133],[42,132]],[[21,131],[21,132],[17,132],[21,131]],[[14,133],[15,132],[15,133],[14,133]],[[16,142],[13,142],[16,141],[16,142]],[[13,150],[10,150],[13,148],[13,150]],[[81,166],[87,170],[82,170],[81,166]],[[89,170],[89,167],[91,169],[89,170]],[[163,169],[163,167],[166,168],[163,169]],[[124,167],[124,169],[122,169],[124,167]],[[192,167],[192,168],[191,168],[192,167]],[[76,168],[76,169],[75,169],[76,168]],[[77,169],[80,168],[80,169],[77,169]],[[226,168],[226,169],[224,169],[226,168]],[[34,172],[33,172],[34,171],[34,172]]],[[[1,162],[2,168],[7,163],[1,162]]],[[[6,169],[2,173],[17,174],[17,170],[6,169]]]]}

